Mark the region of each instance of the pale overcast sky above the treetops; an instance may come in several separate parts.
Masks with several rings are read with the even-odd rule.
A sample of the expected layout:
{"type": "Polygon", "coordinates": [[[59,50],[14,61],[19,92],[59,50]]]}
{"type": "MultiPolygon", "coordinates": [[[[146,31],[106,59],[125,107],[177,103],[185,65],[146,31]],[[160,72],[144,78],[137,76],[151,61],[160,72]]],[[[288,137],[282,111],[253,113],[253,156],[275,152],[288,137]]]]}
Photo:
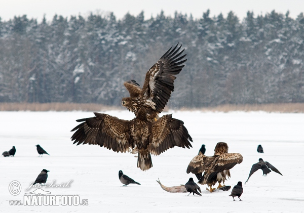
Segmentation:
{"type": "Polygon", "coordinates": [[[290,17],[296,18],[304,11],[303,0],[0,0],[0,17],[2,21],[13,19],[14,16],[27,15],[28,18],[42,20],[44,14],[51,21],[55,14],[64,17],[71,15],[88,16],[90,12],[106,14],[113,12],[118,19],[129,12],[138,15],[144,11],[145,19],[156,16],[161,10],[165,15],[174,16],[174,12],[192,14],[201,18],[203,12],[210,9],[211,16],[230,11],[242,20],[247,11],[253,11],[255,16],[270,13],[275,10],[285,14],[288,10],[290,17]]]}

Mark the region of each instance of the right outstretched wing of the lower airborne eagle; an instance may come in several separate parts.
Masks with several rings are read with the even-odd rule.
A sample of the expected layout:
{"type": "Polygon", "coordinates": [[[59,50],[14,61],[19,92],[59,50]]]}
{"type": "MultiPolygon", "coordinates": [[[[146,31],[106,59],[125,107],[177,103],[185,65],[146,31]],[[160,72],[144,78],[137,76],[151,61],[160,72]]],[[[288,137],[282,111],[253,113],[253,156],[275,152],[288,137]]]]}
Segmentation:
{"type": "Polygon", "coordinates": [[[183,121],[169,114],[152,123],[152,142],[148,149],[152,154],[159,155],[174,146],[190,148],[192,145],[189,141],[193,140],[183,121]]]}

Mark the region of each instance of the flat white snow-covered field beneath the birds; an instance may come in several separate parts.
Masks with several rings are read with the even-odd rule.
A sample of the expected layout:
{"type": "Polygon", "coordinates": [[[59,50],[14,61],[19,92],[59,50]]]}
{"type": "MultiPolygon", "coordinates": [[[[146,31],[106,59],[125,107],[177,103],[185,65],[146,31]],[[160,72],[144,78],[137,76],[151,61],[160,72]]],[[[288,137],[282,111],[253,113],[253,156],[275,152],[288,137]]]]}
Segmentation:
{"type": "MultiPolygon", "coordinates": [[[[122,119],[132,119],[124,111],[107,111],[122,119]]],[[[175,147],[159,156],[152,155],[153,167],[142,172],[131,153],[116,153],[97,145],[73,145],[70,130],[75,119],[92,117],[92,112],[0,112],[0,152],[16,147],[15,157],[0,158],[0,211],[3,212],[304,212],[304,114],[265,112],[170,112],[184,121],[194,142],[193,148],[175,147]],[[168,193],[165,186],[185,184],[195,175],[186,174],[189,161],[198,154],[202,144],[206,155],[213,155],[217,142],[226,142],[230,152],[241,153],[244,160],[231,169],[232,187],[243,182],[242,201],[233,201],[231,192],[210,193],[201,186],[203,196],[168,193]],[[35,145],[49,154],[38,157],[35,145]],[[261,144],[264,154],[257,153],[261,144]],[[262,157],[283,174],[262,171],[254,173],[249,182],[251,166],[262,157]],[[43,168],[48,169],[48,183],[67,183],[69,187],[43,187],[52,195],[79,195],[88,205],[28,206],[10,205],[21,200],[43,168]],[[122,187],[118,172],[141,185],[122,187]],[[20,182],[21,193],[9,192],[12,181],[20,182]]],[[[217,186],[217,185],[216,185],[217,186]]],[[[238,200],[238,198],[235,198],[238,200]]]]}

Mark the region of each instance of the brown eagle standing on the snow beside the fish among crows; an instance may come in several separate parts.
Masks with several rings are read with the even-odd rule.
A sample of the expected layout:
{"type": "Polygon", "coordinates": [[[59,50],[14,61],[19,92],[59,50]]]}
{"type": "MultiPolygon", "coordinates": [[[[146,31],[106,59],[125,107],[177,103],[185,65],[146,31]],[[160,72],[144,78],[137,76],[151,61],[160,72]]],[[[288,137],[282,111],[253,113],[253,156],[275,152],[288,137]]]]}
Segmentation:
{"type": "Polygon", "coordinates": [[[210,192],[215,189],[213,185],[218,182],[220,188],[221,182],[226,180],[226,177],[231,177],[230,170],[236,164],[243,161],[243,156],[239,153],[228,153],[228,145],[224,142],[216,144],[214,155],[212,157],[204,155],[202,152],[195,156],[187,167],[187,173],[193,173],[199,179],[200,184],[207,184],[210,192]],[[204,175],[203,175],[204,173],[204,175]]]}

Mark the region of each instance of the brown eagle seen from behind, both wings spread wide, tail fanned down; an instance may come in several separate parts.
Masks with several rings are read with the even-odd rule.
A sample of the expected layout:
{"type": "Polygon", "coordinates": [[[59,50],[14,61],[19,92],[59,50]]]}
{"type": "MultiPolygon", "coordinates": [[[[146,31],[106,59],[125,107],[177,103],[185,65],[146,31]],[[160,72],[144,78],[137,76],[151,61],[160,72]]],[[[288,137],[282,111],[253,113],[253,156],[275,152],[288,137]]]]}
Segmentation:
{"type": "Polygon", "coordinates": [[[77,120],[80,123],[71,131],[76,131],[73,144],[96,144],[115,152],[126,152],[138,148],[137,167],[145,171],[152,167],[151,155],[159,155],[174,146],[192,147],[192,141],[183,121],[164,115],[156,122],[147,120],[145,108],[141,108],[136,118],[122,120],[107,114],[94,112],[95,117],[77,120]]]}

